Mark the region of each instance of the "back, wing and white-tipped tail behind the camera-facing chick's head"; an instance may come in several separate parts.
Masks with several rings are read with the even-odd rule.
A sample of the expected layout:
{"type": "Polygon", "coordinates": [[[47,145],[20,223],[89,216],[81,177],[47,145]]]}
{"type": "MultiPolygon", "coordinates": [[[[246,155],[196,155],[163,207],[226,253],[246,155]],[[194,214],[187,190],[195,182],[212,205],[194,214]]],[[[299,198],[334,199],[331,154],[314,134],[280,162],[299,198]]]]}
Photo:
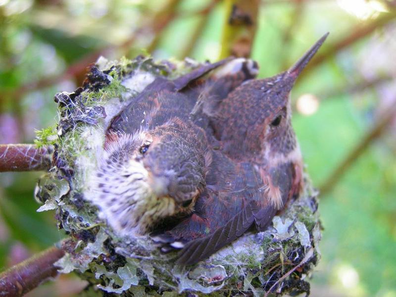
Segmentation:
{"type": "MultiPolygon", "coordinates": [[[[206,122],[203,119],[205,116],[196,110],[196,106],[202,105],[201,98],[207,98],[205,111],[210,110],[231,90],[254,77],[256,68],[247,67],[251,63],[251,60],[228,58],[213,64],[200,65],[174,80],[157,77],[112,119],[107,134],[133,134],[139,129],[152,129],[175,116],[187,120],[191,114],[196,114],[198,121],[206,122]],[[194,84],[219,67],[219,71],[194,84]]],[[[201,123],[200,126],[206,124],[201,123]]]]}

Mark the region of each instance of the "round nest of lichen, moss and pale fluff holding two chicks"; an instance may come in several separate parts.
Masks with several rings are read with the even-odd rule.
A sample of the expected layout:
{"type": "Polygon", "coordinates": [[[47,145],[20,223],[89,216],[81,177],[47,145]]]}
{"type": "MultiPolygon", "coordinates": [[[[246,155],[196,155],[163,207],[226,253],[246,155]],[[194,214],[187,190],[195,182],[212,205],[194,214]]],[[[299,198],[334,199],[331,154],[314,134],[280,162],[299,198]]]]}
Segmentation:
{"type": "Polygon", "coordinates": [[[155,77],[175,78],[201,67],[193,60],[154,62],[151,58],[107,61],[99,58],[84,86],[58,93],[56,128],[39,133],[37,144],[54,145],[52,168],[36,188],[43,205],[55,209],[67,239],[56,264],[62,273],[77,272],[89,281],[86,294],[134,296],[238,294],[265,296],[309,293],[307,279],[320,256],[317,192],[304,176],[297,199],[259,233],[246,233],[196,265],[175,265],[175,252],[162,253],[147,237],[122,238],[84,199],[87,181],[98,166],[104,131],[111,119],[155,77]]]}

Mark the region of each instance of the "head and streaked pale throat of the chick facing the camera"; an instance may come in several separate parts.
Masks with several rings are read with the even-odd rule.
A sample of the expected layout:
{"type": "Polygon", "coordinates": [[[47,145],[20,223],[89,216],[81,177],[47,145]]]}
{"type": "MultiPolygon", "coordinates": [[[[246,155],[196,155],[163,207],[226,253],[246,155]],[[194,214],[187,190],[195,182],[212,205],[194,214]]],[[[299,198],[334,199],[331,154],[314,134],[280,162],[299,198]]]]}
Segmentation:
{"type": "Polygon", "coordinates": [[[142,235],[160,219],[190,213],[205,187],[203,148],[180,119],[113,134],[89,198],[122,235],[142,235]]]}

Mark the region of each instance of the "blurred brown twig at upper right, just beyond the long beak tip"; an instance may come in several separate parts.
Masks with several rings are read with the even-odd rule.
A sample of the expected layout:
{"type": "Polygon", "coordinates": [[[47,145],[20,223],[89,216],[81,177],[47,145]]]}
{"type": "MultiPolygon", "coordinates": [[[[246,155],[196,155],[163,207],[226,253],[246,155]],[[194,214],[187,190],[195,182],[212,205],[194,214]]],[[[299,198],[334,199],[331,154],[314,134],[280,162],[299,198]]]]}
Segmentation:
{"type": "Polygon", "coordinates": [[[308,75],[313,69],[327,61],[335,54],[340,52],[343,49],[353,45],[357,41],[362,38],[367,37],[371,33],[373,33],[376,29],[385,26],[390,21],[394,20],[396,17],[396,12],[383,13],[382,16],[376,18],[375,20],[365,23],[364,25],[358,26],[355,30],[353,30],[347,37],[339,40],[333,45],[328,46],[327,48],[321,50],[318,54],[313,57],[313,59],[306,66],[304,71],[300,74],[299,80],[301,77],[305,77],[308,75]]]}

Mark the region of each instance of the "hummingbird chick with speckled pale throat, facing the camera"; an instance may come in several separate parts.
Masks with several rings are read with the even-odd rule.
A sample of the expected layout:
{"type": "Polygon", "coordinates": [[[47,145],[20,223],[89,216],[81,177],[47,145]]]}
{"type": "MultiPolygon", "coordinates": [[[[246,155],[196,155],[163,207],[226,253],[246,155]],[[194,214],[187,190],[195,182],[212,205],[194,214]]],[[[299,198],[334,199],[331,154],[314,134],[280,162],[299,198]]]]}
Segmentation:
{"type": "MultiPolygon", "coordinates": [[[[203,92],[209,96],[215,89],[219,97],[221,88],[226,96],[228,89],[254,77],[256,67],[251,60],[226,59],[174,81],[158,78],[112,120],[98,172],[85,196],[117,233],[147,234],[162,219],[193,211],[206,186],[209,145],[206,131],[191,121],[191,111],[203,92]],[[196,82],[194,89],[187,88],[220,66],[210,79],[226,78],[227,86],[196,82]]],[[[198,116],[206,127],[208,119],[198,116]]]]}

